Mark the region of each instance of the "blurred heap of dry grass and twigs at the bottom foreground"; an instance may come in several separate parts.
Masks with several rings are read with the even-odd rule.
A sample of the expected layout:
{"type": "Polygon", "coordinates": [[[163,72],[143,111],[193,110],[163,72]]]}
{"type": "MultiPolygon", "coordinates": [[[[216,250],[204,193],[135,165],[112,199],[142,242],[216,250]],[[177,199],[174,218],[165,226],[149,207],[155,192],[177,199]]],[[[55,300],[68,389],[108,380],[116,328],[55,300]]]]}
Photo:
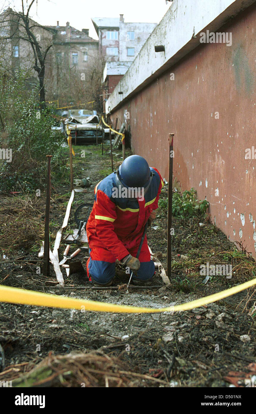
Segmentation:
{"type": "Polygon", "coordinates": [[[9,366],[0,373],[0,379],[12,380],[12,387],[152,387],[168,385],[150,375],[129,371],[129,366],[114,356],[101,351],[87,354],[49,354],[31,371],[21,375],[26,363],[9,366]]]}

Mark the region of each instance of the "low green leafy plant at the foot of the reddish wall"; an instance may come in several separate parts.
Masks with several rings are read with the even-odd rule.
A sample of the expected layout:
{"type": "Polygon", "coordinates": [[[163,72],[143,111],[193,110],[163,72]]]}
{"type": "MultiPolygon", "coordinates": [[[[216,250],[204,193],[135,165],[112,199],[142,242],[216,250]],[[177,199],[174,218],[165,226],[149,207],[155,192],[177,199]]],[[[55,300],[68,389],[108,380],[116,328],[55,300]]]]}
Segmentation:
{"type": "MultiPolygon", "coordinates": [[[[160,199],[158,205],[167,209],[168,199],[160,199]]],[[[206,214],[209,206],[207,200],[197,200],[195,188],[185,190],[183,193],[172,194],[172,215],[174,217],[201,217],[206,214]]]]}

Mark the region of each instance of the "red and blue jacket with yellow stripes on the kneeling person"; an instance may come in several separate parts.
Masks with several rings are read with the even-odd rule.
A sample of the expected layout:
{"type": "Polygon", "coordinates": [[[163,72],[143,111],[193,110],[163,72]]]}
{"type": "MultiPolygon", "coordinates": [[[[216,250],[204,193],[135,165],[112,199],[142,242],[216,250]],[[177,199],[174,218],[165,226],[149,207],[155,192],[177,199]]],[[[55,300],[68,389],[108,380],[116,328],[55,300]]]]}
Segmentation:
{"type": "Polygon", "coordinates": [[[115,259],[122,260],[129,254],[128,250],[139,246],[144,226],[151,212],[158,208],[164,185],[159,171],[156,168],[150,170],[154,175],[148,190],[143,199],[136,201],[112,197],[112,189],[117,187],[115,173],[96,185],[95,201],[86,225],[91,249],[106,249],[115,259]]]}

